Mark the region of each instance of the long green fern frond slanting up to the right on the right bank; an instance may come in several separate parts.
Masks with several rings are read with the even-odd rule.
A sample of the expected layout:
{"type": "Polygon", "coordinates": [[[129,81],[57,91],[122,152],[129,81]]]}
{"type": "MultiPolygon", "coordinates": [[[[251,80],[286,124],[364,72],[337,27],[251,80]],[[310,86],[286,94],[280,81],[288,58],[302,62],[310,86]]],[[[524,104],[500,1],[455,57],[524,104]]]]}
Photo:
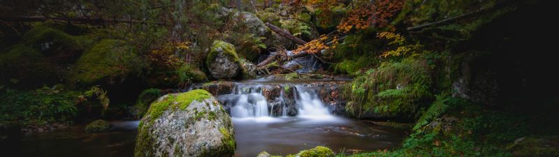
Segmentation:
{"type": "Polygon", "coordinates": [[[429,120],[435,119],[436,117],[439,117],[440,114],[447,111],[447,109],[449,108],[449,104],[447,103],[447,101],[450,98],[447,95],[448,94],[441,94],[436,96],[437,100],[435,100],[435,102],[433,102],[433,104],[431,104],[427,111],[423,113],[423,115],[419,118],[417,124],[414,126],[414,130],[418,130],[419,128],[427,124],[429,120]]]}

